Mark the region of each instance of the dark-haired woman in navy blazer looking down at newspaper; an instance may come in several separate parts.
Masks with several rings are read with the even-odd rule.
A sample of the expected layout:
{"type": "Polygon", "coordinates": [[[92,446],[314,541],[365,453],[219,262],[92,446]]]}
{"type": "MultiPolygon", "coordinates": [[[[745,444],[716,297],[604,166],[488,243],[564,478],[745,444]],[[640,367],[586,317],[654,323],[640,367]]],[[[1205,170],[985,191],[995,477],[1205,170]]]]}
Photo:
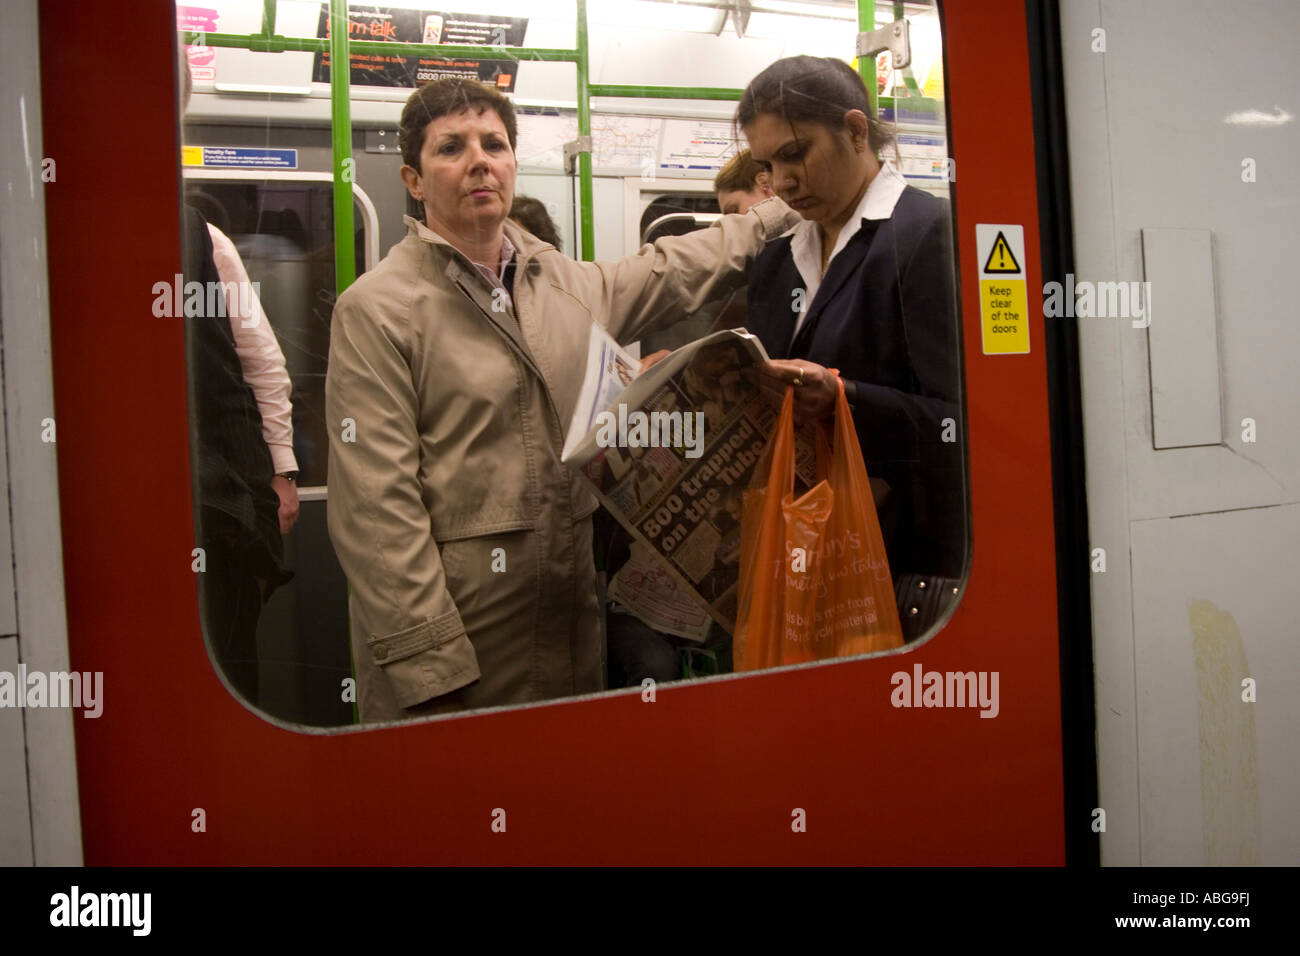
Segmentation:
{"type": "MultiPolygon", "coordinates": [[[[798,386],[796,416],[809,420],[833,415],[841,378],[867,473],[888,484],[878,509],[896,581],[957,579],[966,496],[949,206],[878,160],[889,134],[842,61],[776,61],[736,122],[805,220],[750,267],[748,328],[774,359],[759,384],[798,386]]],[[[900,601],[916,636],[916,596],[900,601]]]]}

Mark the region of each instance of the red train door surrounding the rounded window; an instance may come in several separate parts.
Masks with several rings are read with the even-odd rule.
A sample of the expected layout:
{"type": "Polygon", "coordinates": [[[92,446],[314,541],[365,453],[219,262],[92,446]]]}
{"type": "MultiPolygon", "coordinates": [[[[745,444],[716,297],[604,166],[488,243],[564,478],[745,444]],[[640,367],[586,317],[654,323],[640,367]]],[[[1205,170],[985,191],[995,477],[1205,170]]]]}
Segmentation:
{"type": "Polygon", "coordinates": [[[654,704],[338,735],[246,710],[199,632],[182,329],[151,312],[179,272],[173,7],[40,16],[69,640],[105,682],[75,718],[88,864],[1063,862],[1043,319],[1028,355],[983,355],[975,280],[975,224],[1019,222],[1041,287],[1023,0],[945,4],[975,541],[948,627],[654,704]],[[998,715],[892,708],[918,662],[998,671],[998,715]]]}

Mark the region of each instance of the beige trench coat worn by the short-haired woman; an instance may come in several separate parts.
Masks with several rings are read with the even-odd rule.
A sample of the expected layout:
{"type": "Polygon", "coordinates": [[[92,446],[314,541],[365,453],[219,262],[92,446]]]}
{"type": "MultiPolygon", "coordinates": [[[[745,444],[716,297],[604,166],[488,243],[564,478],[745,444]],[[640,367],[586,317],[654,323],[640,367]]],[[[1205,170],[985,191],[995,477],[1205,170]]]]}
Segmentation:
{"type": "Polygon", "coordinates": [[[560,463],[592,323],[630,342],[696,311],[798,217],[770,199],[612,263],[507,221],[504,311],[465,256],[406,221],[339,297],[325,382],[360,717],[400,719],[442,695],[434,710],[599,691],[597,501],[560,463]]]}

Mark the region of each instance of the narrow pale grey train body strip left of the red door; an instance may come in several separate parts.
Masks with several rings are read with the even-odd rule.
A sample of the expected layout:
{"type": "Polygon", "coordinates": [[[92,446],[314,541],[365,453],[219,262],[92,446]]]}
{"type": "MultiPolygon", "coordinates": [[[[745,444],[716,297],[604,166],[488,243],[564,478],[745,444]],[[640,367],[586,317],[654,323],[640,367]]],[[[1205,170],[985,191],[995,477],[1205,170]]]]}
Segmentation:
{"type": "MultiPolygon", "coordinates": [[[[0,98],[0,169],[5,170],[0,189],[0,319],[6,320],[4,425],[18,591],[18,658],[30,670],[49,672],[70,667],[57,444],[40,440],[42,419],[56,418],[44,191],[69,187],[42,181],[39,51],[36,0],[6,4],[0,30],[5,86],[0,98]]],[[[23,731],[32,857],[38,866],[79,866],[73,714],[64,708],[23,710],[23,731]]]]}

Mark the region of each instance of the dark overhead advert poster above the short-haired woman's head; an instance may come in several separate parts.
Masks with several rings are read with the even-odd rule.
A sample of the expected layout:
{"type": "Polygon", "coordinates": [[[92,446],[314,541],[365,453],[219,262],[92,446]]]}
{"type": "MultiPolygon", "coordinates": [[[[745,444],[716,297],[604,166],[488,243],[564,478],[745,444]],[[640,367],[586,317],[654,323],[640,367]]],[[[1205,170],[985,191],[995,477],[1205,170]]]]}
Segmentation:
{"type": "MultiPolygon", "coordinates": [[[[404,10],[390,7],[350,7],[348,39],[400,43],[454,43],[467,47],[521,47],[526,17],[493,17],[481,13],[404,10]]],[[[329,4],[321,4],[318,38],[329,38],[329,4]]],[[[502,92],[514,92],[517,64],[514,60],[351,53],[354,86],[412,88],[443,77],[478,79],[502,92]]],[[[329,51],[316,55],[312,81],[329,82],[329,51]]]]}

